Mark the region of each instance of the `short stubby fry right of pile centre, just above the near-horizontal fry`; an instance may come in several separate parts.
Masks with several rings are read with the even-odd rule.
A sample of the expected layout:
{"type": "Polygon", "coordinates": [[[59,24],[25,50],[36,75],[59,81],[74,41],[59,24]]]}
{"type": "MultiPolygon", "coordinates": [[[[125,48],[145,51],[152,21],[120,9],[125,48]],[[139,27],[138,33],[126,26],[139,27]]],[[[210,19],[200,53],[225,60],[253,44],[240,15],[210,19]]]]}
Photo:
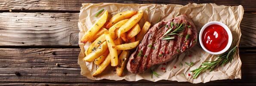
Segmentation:
{"type": "Polygon", "coordinates": [[[133,26],[132,29],[127,31],[127,38],[131,39],[132,37],[135,37],[137,34],[139,34],[140,27],[139,24],[137,23],[136,25],[133,26]]]}

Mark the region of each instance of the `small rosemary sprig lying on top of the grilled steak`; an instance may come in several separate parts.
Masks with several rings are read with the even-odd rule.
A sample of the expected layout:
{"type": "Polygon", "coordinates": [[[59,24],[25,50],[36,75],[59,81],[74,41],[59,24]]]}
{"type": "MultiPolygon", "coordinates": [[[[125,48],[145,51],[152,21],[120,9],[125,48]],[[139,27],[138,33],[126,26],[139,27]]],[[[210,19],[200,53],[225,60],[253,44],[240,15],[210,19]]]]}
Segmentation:
{"type": "MultiPolygon", "coordinates": [[[[168,28],[168,25],[166,27],[168,28]]],[[[166,31],[166,33],[163,34],[163,37],[161,38],[161,40],[171,40],[171,39],[174,39],[174,37],[171,37],[171,35],[179,35],[179,36],[182,37],[182,35],[177,34],[177,33],[183,31],[183,29],[184,29],[184,25],[183,24],[180,24],[180,25],[176,24],[175,30],[172,31],[172,29],[173,29],[173,22],[171,22],[169,30],[166,31]]]]}

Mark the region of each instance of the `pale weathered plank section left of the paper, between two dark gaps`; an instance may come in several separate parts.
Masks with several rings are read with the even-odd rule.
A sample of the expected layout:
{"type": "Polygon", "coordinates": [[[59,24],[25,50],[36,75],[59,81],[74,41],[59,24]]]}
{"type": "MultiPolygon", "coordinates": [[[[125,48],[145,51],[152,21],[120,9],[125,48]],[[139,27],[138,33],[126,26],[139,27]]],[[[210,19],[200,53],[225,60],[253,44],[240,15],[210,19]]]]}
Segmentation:
{"type": "Polygon", "coordinates": [[[0,13],[0,46],[78,46],[79,13],[0,13]]]}

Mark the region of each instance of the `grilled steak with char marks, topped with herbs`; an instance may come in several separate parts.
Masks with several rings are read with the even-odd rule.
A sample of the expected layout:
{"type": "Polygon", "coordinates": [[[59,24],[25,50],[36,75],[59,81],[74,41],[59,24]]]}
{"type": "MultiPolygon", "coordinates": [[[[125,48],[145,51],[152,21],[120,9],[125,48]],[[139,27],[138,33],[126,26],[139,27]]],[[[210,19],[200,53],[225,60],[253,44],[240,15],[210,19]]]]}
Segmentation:
{"type": "Polygon", "coordinates": [[[191,18],[187,15],[159,22],[148,30],[136,51],[130,56],[126,66],[127,70],[131,73],[143,73],[155,64],[170,61],[174,55],[185,52],[196,42],[197,31],[191,18]],[[163,40],[164,37],[167,38],[165,33],[170,28],[172,30],[169,32],[173,32],[177,28],[183,30],[169,36],[174,37],[173,39],[163,40]]]}

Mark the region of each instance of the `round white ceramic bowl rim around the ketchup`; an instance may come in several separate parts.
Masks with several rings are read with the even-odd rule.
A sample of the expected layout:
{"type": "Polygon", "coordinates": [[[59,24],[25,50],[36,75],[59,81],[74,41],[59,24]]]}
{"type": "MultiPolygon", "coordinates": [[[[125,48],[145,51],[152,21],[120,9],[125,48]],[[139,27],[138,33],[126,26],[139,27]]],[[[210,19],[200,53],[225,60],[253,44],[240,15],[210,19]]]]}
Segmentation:
{"type": "Polygon", "coordinates": [[[200,45],[202,46],[202,48],[204,49],[204,51],[206,51],[206,52],[208,52],[208,53],[210,53],[210,54],[213,54],[213,55],[219,55],[219,54],[222,54],[222,53],[226,52],[226,51],[229,49],[229,47],[231,46],[232,39],[233,39],[233,37],[232,37],[231,31],[229,30],[228,26],[225,25],[225,24],[223,24],[222,22],[217,22],[217,21],[208,22],[207,24],[205,24],[205,25],[203,26],[203,28],[200,30],[200,33],[199,33],[199,42],[200,42],[200,45]],[[225,31],[227,31],[227,33],[228,33],[228,44],[227,44],[227,46],[226,46],[224,49],[222,49],[222,50],[219,51],[219,52],[211,52],[211,51],[209,51],[208,49],[206,49],[206,48],[204,47],[204,44],[203,44],[203,42],[202,42],[202,34],[203,34],[205,28],[207,28],[207,27],[210,26],[210,25],[220,25],[220,26],[222,26],[222,27],[225,29],[225,31]]]}

